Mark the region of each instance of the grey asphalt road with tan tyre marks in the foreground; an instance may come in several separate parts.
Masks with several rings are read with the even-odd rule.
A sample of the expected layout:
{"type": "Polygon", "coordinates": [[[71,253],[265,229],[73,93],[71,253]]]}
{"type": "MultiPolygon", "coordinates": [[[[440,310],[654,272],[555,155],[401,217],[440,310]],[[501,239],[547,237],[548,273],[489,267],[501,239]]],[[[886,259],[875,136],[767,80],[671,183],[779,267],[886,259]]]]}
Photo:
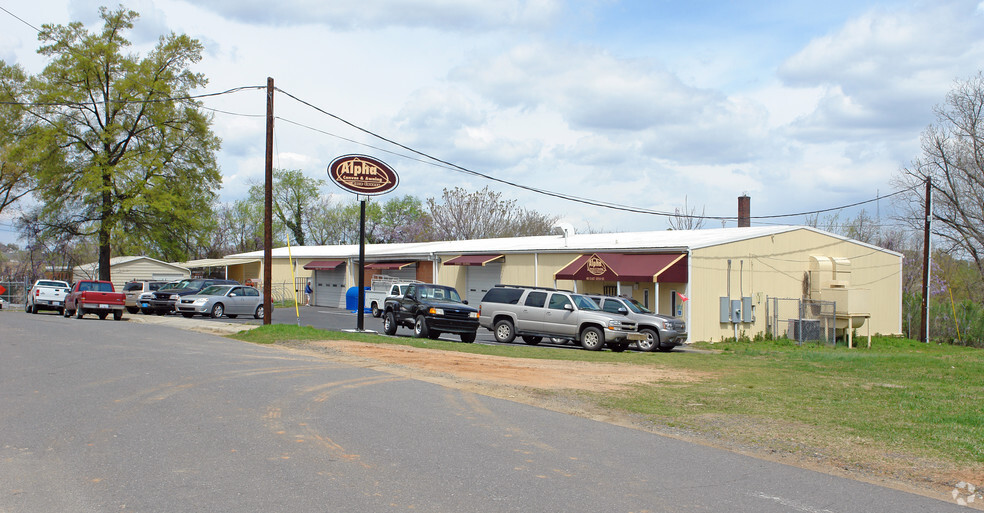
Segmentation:
{"type": "Polygon", "coordinates": [[[137,322],[0,312],[0,512],[946,512],[871,484],[137,322]]]}

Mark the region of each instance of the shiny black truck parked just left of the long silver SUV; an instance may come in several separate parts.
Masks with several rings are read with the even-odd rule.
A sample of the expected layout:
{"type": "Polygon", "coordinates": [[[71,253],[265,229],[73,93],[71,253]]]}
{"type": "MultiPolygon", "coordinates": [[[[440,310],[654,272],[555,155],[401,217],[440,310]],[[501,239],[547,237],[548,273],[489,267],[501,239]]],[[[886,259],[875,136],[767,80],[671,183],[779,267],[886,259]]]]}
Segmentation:
{"type": "Polygon", "coordinates": [[[457,333],[462,342],[475,341],[478,310],[468,306],[454,287],[411,283],[400,297],[386,300],[383,332],[396,334],[399,326],[413,329],[413,336],[437,339],[442,333],[457,333]]]}

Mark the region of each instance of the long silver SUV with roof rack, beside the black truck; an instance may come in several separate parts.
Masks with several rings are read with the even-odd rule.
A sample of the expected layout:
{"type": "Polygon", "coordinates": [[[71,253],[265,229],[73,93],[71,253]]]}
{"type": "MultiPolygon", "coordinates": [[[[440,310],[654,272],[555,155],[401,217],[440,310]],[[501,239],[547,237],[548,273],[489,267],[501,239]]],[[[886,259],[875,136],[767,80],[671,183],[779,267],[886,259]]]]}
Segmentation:
{"type": "Polygon", "coordinates": [[[550,337],[580,342],[589,351],[605,344],[612,351],[625,351],[630,343],[645,339],[634,321],[603,312],[587,296],[566,290],[496,285],[485,293],[478,312],[479,325],[502,343],[517,335],[531,345],[550,337]]]}

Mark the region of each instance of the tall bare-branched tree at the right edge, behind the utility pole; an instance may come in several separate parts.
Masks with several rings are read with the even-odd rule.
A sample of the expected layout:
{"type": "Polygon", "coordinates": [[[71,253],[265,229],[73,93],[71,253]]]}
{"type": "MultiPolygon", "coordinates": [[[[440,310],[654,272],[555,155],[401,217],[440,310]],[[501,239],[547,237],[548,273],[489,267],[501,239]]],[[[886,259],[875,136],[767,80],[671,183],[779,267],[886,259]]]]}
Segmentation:
{"type": "Polygon", "coordinates": [[[902,170],[902,220],[921,230],[932,179],[933,235],[941,250],[965,255],[984,274],[984,73],[958,82],[922,134],[922,156],[902,170]]]}

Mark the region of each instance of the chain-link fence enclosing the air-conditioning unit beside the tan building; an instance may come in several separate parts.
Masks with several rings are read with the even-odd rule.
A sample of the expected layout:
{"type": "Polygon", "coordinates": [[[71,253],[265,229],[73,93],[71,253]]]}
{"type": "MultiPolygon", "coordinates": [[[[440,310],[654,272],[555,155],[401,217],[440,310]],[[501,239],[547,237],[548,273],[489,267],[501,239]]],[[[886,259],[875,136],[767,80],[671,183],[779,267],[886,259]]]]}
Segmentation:
{"type": "Polygon", "coordinates": [[[837,308],[833,301],[771,297],[766,300],[766,332],[797,343],[837,340],[837,308]]]}

